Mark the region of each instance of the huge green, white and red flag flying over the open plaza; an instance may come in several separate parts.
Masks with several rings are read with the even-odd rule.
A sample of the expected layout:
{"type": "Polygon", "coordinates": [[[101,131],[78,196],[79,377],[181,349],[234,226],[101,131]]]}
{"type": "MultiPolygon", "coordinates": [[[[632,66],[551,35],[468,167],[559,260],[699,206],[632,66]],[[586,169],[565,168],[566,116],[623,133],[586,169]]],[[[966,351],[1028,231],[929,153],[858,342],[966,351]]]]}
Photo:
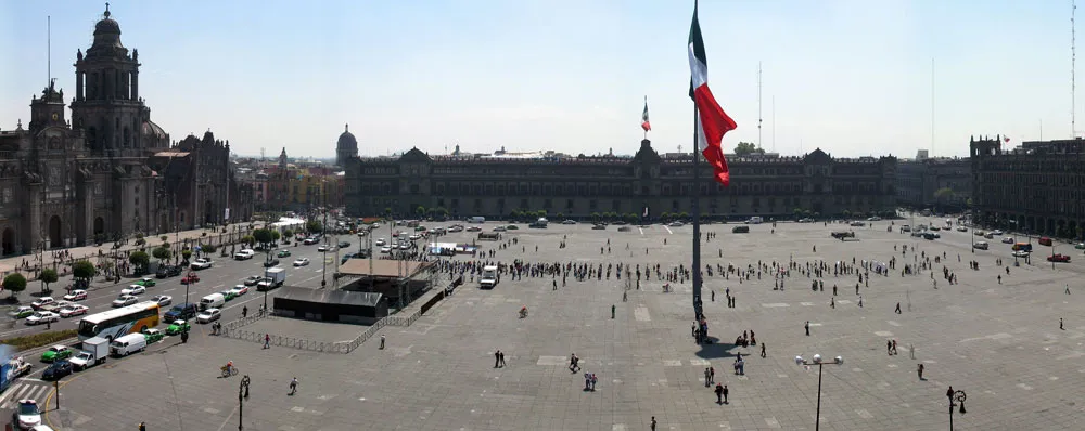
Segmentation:
{"type": "Polygon", "coordinates": [[[716,103],[716,97],[709,90],[709,62],[704,54],[704,40],[701,38],[701,25],[697,21],[697,2],[693,3],[693,23],[689,28],[689,96],[693,99],[698,110],[697,143],[704,159],[712,165],[716,182],[723,185],[731,183],[731,174],[727,169],[722,142],[724,134],[735,130],[738,125],[727,116],[724,108],[716,103]]]}

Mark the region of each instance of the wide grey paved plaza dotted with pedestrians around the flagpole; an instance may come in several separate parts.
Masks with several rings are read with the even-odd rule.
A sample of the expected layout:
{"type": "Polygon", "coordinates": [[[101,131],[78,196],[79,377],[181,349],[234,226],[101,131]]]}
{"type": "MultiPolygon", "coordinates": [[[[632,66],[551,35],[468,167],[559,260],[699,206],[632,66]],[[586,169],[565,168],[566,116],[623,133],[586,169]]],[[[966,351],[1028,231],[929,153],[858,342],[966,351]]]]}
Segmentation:
{"type": "MultiPolygon", "coordinates": [[[[47,423],[60,430],[116,430],[135,429],[142,420],[155,431],[214,431],[235,429],[243,415],[245,430],[647,430],[654,416],[659,430],[813,430],[817,368],[804,369],[794,358],[820,353],[844,357],[843,365],[824,369],[826,430],[944,429],[950,384],[968,394],[968,413],[954,417],[958,429],[1085,427],[1085,402],[1074,389],[1085,382],[1085,316],[1080,313],[1085,266],[1073,262],[1052,270],[1043,262],[1050,250],[1037,247],[1033,265],[1011,266],[1007,275],[995,260],[1012,264],[1013,258],[998,239],[988,240],[990,251],[973,254],[971,233],[943,232],[941,239],[923,240],[886,232],[889,223],[870,228],[787,223],[775,234],[770,224],[752,225],[749,234],[732,234],[735,224],[704,226],[718,234],[702,249],[703,263],[713,269],[745,269],[758,261],[830,264],[825,291],[818,292],[799,271],[791,272],[784,290],[774,290],[767,273],[741,284],[735,275],[705,275],[704,312],[710,335],[720,343],[693,342],[689,282],[665,293],[653,274],[623,302],[624,277],[570,277],[565,286],[558,277],[554,291],[549,276],[512,280],[506,275],[493,290],[465,284],[410,327],[384,327],[378,332],[387,338],[384,350],[378,340],[349,354],[330,354],[264,350],[204,335],[184,345],[170,338],[144,354],[62,381],[61,408],[50,397],[48,407],[54,410],[47,423]],[[829,236],[834,230],[855,230],[858,240],[834,240],[829,236]],[[907,245],[909,251],[902,256],[894,245],[907,245]],[[929,271],[902,277],[903,265],[914,263],[911,247],[928,256],[945,253],[942,263],[933,264],[937,289],[929,271]],[[860,288],[861,308],[856,276],[831,273],[837,261],[893,257],[895,271],[875,275],[869,287],[860,288]],[[969,269],[973,259],[980,271],[969,269]],[[958,285],[945,283],[943,265],[958,285]],[[834,284],[840,289],[833,309],[834,284]],[[736,296],[736,308],[726,306],[726,288],[736,296]],[[714,302],[707,289],[715,291],[714,302]],[[894,312],[898,302],[901,314],[894,312]],[[531,311],[523,319],[516,313],[522,305],[531,311]],[[758,344],[732,345],[743,330],[755,331],[758,344]],[[897,341],[899,354],[886,354],[886,340],[897,341]],[[760,357],[763,343],[765,358],[760,357]],[[506,353],[507,366],[495,368],[496,350],[506,353]],[[582,358],[583,370],[570,371],[571,353],[582,358]],[[739,353],[746,357],[744,376],[732,373],[739,353]],[[219,377],[227,361],[252,379],[243,412],[240,376],[219,377]],[[919,364],[926,367],[924,380],[917,376],[919,364]],[[729,404],[716,404],[705,388],[703,371],[710,366],[728,386],[729,404]],[[583,373],[598,375],[593,392],[584,390],[583,373]],[[301,384],[288,395],[292,377],[301,384]]],[[[592,231],[587,224],[522,228],[506,234],[519,244],[498,251],[497,260],[659,263],[667,271],[689,266],[690,234],[690,226],[661,225],[633,226],[631,232],[592,231]],[[567,248],[559,248],[563,238],[567,248]]],[[[470,241],[472,236],[442,240],[470,241]]],[[[496,249],[499,243],[481,244],[496,249]]],[[[1082,257],[1067,245],[1057,251],[1082,257]]],[[[277,319],[253,328],[257,325],[280,331],[297,325],[294,332],[311,334],[319,324],[277,319]]],[[[346,339],[340,332],[329,326],[318,335],[346,339]]]]}

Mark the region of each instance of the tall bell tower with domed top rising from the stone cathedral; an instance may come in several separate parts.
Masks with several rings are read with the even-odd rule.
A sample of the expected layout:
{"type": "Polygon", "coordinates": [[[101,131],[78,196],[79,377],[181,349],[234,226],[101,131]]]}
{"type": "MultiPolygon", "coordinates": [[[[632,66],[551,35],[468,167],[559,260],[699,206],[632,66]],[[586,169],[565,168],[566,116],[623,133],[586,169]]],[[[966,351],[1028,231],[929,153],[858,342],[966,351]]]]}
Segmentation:
{"type": "Polygon", "coordinates": [[[143,149],[143,102],[139,99],[139,52],[120,43],[120,25],[105,3],[94,25],[94,42],[76,53],[72,122],[86,131],[87,147],[94,153],[123,154],[143,149]]]}

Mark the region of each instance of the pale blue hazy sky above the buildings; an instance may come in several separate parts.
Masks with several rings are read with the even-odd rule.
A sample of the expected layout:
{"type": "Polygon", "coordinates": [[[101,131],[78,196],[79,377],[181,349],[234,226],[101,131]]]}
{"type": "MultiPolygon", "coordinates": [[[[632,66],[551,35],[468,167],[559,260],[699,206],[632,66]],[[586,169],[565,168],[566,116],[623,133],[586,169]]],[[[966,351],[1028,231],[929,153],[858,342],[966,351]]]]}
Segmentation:
{"type": "MultiPolygon", "coordinates": [[[[348,123],[362,156],[631,155],[647,96],[652,146],[692,146],[692,1],[110,4],[123,43],[139,49],[141,96],[175,141],[212,130],[242,156],[332,157],[348,123]]],[[[47,16],[51,75],[71,95],[76,50],[104,9],[0,0],[0,129],[27,123],[48,82],[47,16]]],[[[699,11],[709,86],[738,122],[725,149],[967,156],[971,135],[1070,138],[1083,113],[1070,1],[704,0],[699,11]]]]}

